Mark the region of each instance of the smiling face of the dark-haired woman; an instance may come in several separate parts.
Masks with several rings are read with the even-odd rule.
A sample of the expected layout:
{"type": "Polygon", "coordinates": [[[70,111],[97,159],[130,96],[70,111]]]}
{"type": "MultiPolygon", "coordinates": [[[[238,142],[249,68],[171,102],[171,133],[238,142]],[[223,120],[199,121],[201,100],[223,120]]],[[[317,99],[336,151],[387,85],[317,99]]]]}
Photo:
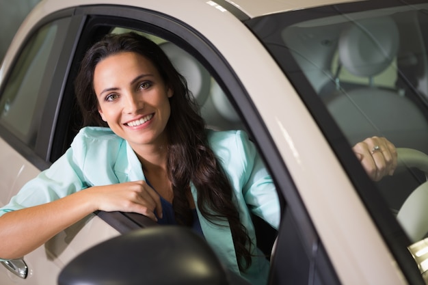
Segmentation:
{"type": "Polygon", "coordinates": [[[94,90],[101,118],[134,148],[165,143],[172,90],[137,53],[110,55],[96,65],[94,90]]]}

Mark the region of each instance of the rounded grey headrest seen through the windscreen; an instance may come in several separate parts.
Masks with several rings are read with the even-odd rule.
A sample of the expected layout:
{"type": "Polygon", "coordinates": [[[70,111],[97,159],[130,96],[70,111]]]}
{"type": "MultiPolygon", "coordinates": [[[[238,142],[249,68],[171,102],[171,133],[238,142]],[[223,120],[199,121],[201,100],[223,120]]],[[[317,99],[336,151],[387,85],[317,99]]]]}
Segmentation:
{"type": "Polygon", "coordinates": [[[340,62],[349,72],[371,77],[385,70],[399,49],[399,30],[391,18],[355,21],[340,34],[340,62]]]}

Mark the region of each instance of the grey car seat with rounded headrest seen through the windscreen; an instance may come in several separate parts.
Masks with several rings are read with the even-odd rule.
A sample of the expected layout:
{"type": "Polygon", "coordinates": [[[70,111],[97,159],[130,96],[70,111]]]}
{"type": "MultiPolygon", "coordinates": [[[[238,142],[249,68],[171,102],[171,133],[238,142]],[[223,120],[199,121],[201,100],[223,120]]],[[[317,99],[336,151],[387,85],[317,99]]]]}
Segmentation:
{"type": "MultiPolygon", "coordinates": [[[[341,87],[327,109],[354,145],[377,135],[386,137],[399,148],[414,148],[428,153],[428,123],[423,109],[396,88],[375,86],[373,77],[386,68],[394,68],[400,45],[400,34],[392,18],[362,19],[343,28],[338,53],[343,68],[358,77],[368,78],[366,85],[350,90],[341,87]]],[[[403,204],[425,176],[407,169],[377,182],[388,206],[393,211],[403,204]]]]}

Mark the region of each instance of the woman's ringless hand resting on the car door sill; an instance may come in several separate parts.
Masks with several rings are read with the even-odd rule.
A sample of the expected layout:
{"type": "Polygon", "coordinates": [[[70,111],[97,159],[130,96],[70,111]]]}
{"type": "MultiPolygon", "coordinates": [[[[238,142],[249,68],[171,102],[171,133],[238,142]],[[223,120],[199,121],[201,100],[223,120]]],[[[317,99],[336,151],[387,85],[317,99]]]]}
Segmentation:
{"type": "Polygon", "coordinates": [[[143,180],[115,185],[94,186],[85,191],[95,194],[96,209],[112,212],[139,213],[157,221],[162,217],[159,194],[143,180]],[[157,217],[155,216],[155,211],[157,217]]]}

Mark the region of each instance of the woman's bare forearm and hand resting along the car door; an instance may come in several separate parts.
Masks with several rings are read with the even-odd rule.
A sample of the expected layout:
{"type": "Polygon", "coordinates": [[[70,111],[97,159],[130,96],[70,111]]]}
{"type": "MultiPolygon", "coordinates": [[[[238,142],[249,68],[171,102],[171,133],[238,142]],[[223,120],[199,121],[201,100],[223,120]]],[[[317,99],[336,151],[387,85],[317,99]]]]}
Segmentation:
{"type": "Polygon", "coordinates": [[[157,220],[159,195],[144,181],[90,187],[64,198],[0,217],[0,258],[20,258],[94,211],[122,211],[157,220]]]}

